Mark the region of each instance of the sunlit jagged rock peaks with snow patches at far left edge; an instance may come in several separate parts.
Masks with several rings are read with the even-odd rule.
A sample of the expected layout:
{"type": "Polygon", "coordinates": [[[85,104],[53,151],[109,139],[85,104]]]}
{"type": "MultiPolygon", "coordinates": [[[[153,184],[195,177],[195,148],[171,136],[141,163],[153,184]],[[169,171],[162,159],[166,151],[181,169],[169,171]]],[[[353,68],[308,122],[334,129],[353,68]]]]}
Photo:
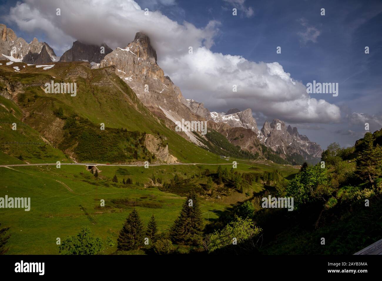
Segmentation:
{"type": "Polygon", "coordinates": [[[0,24],[0,36],[0,59],[2,60],[31,64],[57,61],[53,49],[46,42],[39,42],[36,37],[32,42],[27,43],[23,38],[17,37],[15,32],[7,28],[5,24],[0,24]]]}

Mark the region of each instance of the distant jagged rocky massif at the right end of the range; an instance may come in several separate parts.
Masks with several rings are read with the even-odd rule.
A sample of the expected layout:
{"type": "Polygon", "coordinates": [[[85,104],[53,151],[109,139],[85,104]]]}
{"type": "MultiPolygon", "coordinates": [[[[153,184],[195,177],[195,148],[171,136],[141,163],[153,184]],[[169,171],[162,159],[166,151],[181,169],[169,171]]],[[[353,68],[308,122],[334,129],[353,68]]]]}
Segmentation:
{"type": "Polygon", "coordinates": [[[297,153],[308,158],[319,158],[322,153],[320,145],[308,139],[305,135],[300,135],[297,128],[290,125],[286,127],[285,123],[279,119],[274,119],[272,123],[264,122],[262,129],[257,133],[260,143],[270,147],[285,155],[297,153]]]}

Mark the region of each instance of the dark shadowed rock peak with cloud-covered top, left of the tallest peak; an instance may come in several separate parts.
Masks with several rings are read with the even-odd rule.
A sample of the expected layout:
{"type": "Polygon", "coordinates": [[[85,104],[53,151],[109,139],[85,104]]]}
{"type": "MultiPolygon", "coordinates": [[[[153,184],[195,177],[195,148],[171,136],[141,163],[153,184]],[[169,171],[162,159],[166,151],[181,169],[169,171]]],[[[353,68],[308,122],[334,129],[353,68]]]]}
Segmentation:
{"type": "Polygon", "coordinates": [[[112,49],[106,44],[102,45],[89,45],[79,41],[73,42],[73,46],[67,50],[60,58],[60,62],[75,62],[83,61],[89,62],[91,65],[100,63],[105,55],[112,52],[112,49]],[[101,47],[105,47],[105,53],[101,54],[101,47]]]}

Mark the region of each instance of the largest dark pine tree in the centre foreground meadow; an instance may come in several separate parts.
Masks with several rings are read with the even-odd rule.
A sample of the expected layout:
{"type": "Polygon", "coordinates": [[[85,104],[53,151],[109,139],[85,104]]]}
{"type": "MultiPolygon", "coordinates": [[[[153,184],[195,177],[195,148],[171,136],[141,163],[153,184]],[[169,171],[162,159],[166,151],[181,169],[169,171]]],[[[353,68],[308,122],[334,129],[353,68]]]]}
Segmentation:
{"type": "Polygon", "coordinates": [[[197,195],[191,192],[183,204],[180,216],[170,229],[170,238],[176,244],[198,246],[202,243],[203,220],[197,195]],[[192,201],[189,201],[189,200],[192,201]],[[191,204],[192,203],[192,204],[191,204]]]}

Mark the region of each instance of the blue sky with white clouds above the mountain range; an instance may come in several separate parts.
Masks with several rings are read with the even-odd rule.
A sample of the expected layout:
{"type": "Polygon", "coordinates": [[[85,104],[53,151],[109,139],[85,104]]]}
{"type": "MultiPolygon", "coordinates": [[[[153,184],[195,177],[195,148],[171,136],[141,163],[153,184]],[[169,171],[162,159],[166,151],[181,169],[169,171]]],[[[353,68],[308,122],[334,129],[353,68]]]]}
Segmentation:
{"type": "MultiPolygon", "coordinates": [[[[92,2],[92,0],[89,1],[92,2]]],[[[118,2],[108,1],[113,2],[113,5],[117,5],[118,2]]],[[[49,3],[54,2],[52,0],[49,3]]],[[[197,78],[189,83],[187,72],[180,74],[180,69],[177,69],[177,65],[181,64],[176,64],[175,61],[168,63],[171,56],[176,57],[176,62],[182,62],[181,55],[172,55],[172,52],[178,52],[179,48],[176,49],[176,45],[182,44],[185,38],[182,38],[180,33],[174,33],[177,35],[173,35],[172,38],[173,31],[167,28],[168,21],[166,20],[163,20],[163,31],[158,32],[150,30],[144,23],[141,23],[142,20],[132,23],[126,19],[126,23],[123,25],[126,30],[120,31],[120,41],[115,38],[105,39],[105,42],[110,39],[110,42],[117,42],[118,46],[124,47],[124,44],[127,45],[132,41],[133,34],[139,31],[136,29],[147,30],[147,33],[151,35],[153,45],[157,46],[157,52],[162,57],[162,60],[159,58],[159,65],[165,73],[170,74],[186,98],[204,102],[210,111],[226,112],[234,107],[240,110],[249,107],[253,110],[259,128],[262,127],[265,119],[282,119],[287,124],[298,127],[299,133],[307,135],[323,148],[333,141],[339,142],[342,146],[353,145],[354,141],[362,137],[365,132],[365,122],[370,123],[372,132],[382,127],[381,1],[137,0],[136,2],[142,10],[149,8],[150,11],[157,11],[157,14],[167,16],[168,19],[177,23],[176,28],[182,29],[186,26],[185,22],[191,23],[197,32],[193,32],[193,28],[186,28],[184,33],[188,33],[185,38],[195,36],[196,41],[201,42],[207,42],[212,38],[214,44],[207,46],[213,53],[211,56],[219,57],[219,53],[241,56],[249,62],[256,63],[251,66],[252,68],[259,67],[261,62],[277,62],[285,73],[290,73],[293,80],[299,81],[303,85],[311,83],[313,80],[322,83],[339,83],[337,97],[333,97],[331,94],[311,94],[310,97],[324,99],[328,106],[330,104],[337,106],[340,110],[340,118],[336,117],[330,121],[330,118],[320,120],[320,118],[308,118],[307,115],[307,119],[304,120],[301,115],[294,117],[290,113],[287,114],[286,109],[267,110],[272,104],[270,101],[264,102],[265,98],[260,98],[261,93],[258,92],[252,99],[248,97],[251,95],[250,91],[242,99],[227,98],[227,93],[208,87],[203,89],[203,81],[197,81],[197,78]],[[237,16],[232,15],[232,8],[237,8],[237,16]],[[320,15],[321,8],[325,8],[325,16],[320,15]],[[215,23],[211,28],[212,35],[206,31],[206,27],[211,22],[215,23]],[[134,25],[132,28],[134,30],[128,31],[127,28],[132,25],[134,25]],[[198,32],[202,35],[199,36],[198,32]],[[161,37],[165,38],[163,39],[165,41],[171,41],[174,49],[162,48],[164,43],[161,41],[161,37]],[[206,41],[203,41],[203,38],[206,38],[206,41]],[[277,46],[281,47],[281,54],[276,53],[277,46]],[[370,48],[370,54],[364,53],[365,46],[370,48]],[[193,88],[192,84],[201,86],[193,88]]],[[[49,9],[49,5],[44,5],[45,3],[39,0],[26,1],[30,9],[34,9],[34,12],[31,13],[35,16],[33,23],[45,16],[45,19],[52,21],[52,26],[55,25],[56,29],[62,29],[62,36],[59,36],[61,31],[58,35],[53,34],[52,30],[42,24],[36,24],[32,28],[29,20],[33,16],[28,15],[24,19],[21,9],[10,13],[10,8],[16,6],[15,1],[1,2],[2,22],[12,28],[18,37],[23,37],[28,42],[33,37],[37,37],[39,41],[48,42],[57,55],[61,55],[75,39],[81,39],[79,38],[81,34],[75,30],[81,30],[81,28],[70,26],[67,23],[65,26],[63,22],[55,22],[55,19],[51,19],[52,15],[49,14],[51,11],[49,13],[44,11],[44,9],[49,9]],[[10,16],[11,14],[13,17],[10,16]]],[[[60,5],[61,2],[57,3],[60,5]]],[[[112,5],[110,4],[110,6],[112,5]]],[[[52,7],[55,6],[51,6],[50,10],[52,7]]],[[[75,14],[75,11],[72,13],[75,14]]],[[[62,19],[65,19],[64,16],[62,19]]],[[[119,15],[119,18],[123,19],[123,15],[119,15]]],[[[71,20],[76,21],[77,19],[78,16],[71,20]]],[[[162,20],[160,17],[159,19],[162,20]]],[[[89,20],[104,21],[105,25],[109,24],[106,18],[89,20]]],[[[160,25],[160,21],[158,23],[160,25]]],[[[173,27],[173,24],[168,26],[173,27]]],[[[92,30],[85,31],[84,29],[84,33],[89,34],[89,32],[91,33],[92,30]]],[[[94,37],[97,37],[99,33],[99,30],[95,29],[94,37]]],[[[103,36],[107,37],[107,35],[103,36]]],[[[101,37],[101,39],[104,38],[101,37]]],[[[113,43],[110,44],[111,47],[116,47],[113,43]]],[[[199,47],[202,45],[203,43],[199,47]]],[[[187,65],[191,65],[191,63],[184,62],[182,65],[187,68],[187,65]]],[[[224,72],[223,69],[222,73],[224,74],[224,72]]],[[[254,75],[256,75],[256,71],[254,75]]],[[[196,76],[190,75],[190,77],[196,76]]],[[[220,76],[217,77],[219,79],[220,76]]],[[[266,96],[267,93],[264,95],[266,96]]],[[[291,106],[293,106],[293,102],[291,106]]],[[[293,108],[291,110],[293,111],[293,108]]],[[[301,110],[301,108],[296,107],[297,110],[301,110]]],[[[325,114],[322,116],[326,116],[325,114]]]]}

